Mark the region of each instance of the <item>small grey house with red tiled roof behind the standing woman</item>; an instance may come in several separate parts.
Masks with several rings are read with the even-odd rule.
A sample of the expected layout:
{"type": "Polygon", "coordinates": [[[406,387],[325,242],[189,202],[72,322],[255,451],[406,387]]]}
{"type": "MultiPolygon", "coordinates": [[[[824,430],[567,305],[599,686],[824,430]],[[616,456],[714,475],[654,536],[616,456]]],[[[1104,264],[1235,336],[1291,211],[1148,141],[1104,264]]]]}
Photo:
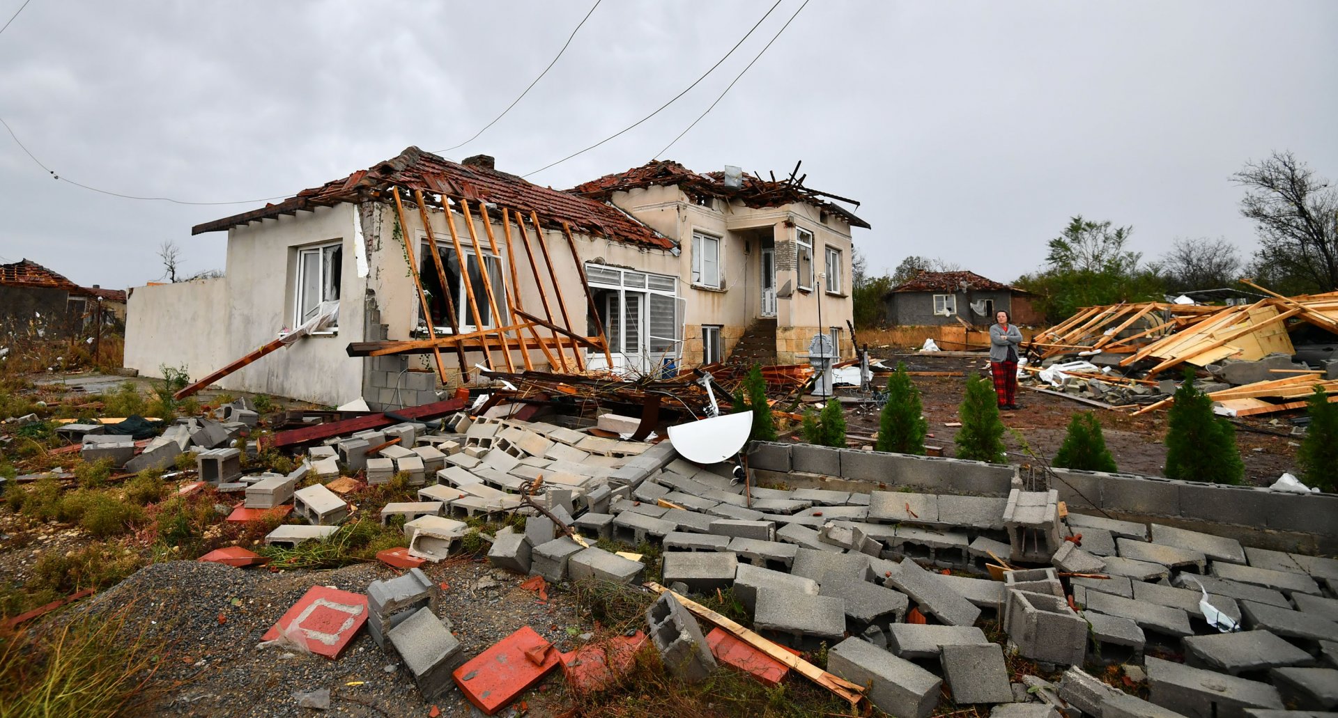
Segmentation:
{"type": "Polygon", "coordinates": [[[1042,322],[1030,293],[974,271],[921,270],[883,295],[883,310],[887,324],[896,326],[989,326],[999,310],[1013,324],[1042,322]]]}

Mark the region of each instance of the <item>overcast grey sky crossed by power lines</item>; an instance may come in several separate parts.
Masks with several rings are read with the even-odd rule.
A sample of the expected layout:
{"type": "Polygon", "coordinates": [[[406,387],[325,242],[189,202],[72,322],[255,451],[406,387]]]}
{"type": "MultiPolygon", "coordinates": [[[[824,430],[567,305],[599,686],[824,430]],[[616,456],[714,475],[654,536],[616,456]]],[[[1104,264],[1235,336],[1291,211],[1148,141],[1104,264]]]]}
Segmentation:
{"type": "MultiPolygon", "coordinates": [[[[688,87],[761,3],[606,0],[530,94],[472,143],[526,174],[688,87]]],[[[692,92],[530,179],[565,189],[641,164],[800,7],[783,0],[692,92]]],[[[21,0],[0,0],[0,23],[21,0]]],[[[31,0],[0,33],[0,116],[47,167],[189,202],[281,198],[409,144],[456,144],[543,70],[593,0],[558,3],[31,0]]],[[[1073,214],[1136,250],[1226,237],[1248,250],[1248,159],[1291,150],[1338,179],[1338,3],[809,3],[665,154],[859,199],[870,269],[941,257],[1012,281],[1073,214]]],[[[58,182],[0,127],[0,259],[83,285],[223,269],[190,227],[264,202],[182,206],[58,182]]]]}

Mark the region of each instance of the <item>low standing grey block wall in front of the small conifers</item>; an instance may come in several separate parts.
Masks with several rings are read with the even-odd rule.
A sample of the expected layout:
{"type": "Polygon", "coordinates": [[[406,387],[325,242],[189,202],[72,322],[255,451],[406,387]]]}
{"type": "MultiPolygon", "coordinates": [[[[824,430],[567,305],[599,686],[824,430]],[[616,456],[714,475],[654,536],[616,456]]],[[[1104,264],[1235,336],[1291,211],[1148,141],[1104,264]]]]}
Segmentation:
{"type": "MultiPolygon", "coordinates": [[[[1008,496],[1014,468],[961,459],[909,456],[811,444],[753,443],[757,481],[846,491],[896,489],[1008,496]]],[[[1280,551],[1338,551],[1338,495],[1173,481],[1133,473],[1054,469],[1050,488],[1074,513],[1108,513],[1234,537],[1280,551]]]]}

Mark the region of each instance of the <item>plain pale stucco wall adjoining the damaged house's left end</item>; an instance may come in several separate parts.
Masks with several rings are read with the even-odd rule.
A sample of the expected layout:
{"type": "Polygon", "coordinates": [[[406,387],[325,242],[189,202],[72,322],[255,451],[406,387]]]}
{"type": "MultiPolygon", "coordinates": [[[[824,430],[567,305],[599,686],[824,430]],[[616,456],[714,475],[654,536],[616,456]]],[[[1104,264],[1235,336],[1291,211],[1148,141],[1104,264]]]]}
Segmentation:
{"type": "Polygon", "coordinates": [[[157,378],[165,364],[185,365],[194,380],[237,358],[227,357],[226,306],[225,278],[131,289],[124,365],[157,378]]]}

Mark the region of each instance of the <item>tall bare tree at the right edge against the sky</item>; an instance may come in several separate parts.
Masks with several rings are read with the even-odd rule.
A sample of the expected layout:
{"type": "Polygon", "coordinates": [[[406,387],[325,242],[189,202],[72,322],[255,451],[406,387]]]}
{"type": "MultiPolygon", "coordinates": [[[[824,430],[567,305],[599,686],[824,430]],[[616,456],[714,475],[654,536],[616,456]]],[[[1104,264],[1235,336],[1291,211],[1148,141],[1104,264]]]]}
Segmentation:
{"type": "Polygon", "coordinates": [[[1232,175],[1246,187],[1240,214],[1255,223],[1255,258],[1287,291],[1338,289],[1338,191],[1291,152],[1248,162],[1232,175]]]}

